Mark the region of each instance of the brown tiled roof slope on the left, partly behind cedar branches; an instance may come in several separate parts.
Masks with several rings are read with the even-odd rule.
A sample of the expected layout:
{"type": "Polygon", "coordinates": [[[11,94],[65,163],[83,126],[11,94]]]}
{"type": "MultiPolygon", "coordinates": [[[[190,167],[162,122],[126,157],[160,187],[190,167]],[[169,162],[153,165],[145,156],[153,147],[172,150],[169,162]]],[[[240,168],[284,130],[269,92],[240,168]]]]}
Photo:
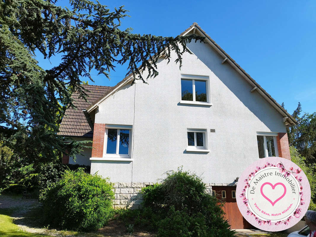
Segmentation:
{"type": "Polygon", "coordinates": [[[79,98],[79,93],[74,92],[71,98],[74,99],[74,105],[77,109],[73,109],[71,106],[65,111],[65,115],[59,126],[58,135],[71,136],[71,137],[93,137],[93,126],[88,123],[86,115],[82,109],[86,109],[91,102],[94,102],[107,91],[111,89],[109,86],[95,86],[95,85],[82,85],[85,89],[89,90],[87,100],[79,98]]]}

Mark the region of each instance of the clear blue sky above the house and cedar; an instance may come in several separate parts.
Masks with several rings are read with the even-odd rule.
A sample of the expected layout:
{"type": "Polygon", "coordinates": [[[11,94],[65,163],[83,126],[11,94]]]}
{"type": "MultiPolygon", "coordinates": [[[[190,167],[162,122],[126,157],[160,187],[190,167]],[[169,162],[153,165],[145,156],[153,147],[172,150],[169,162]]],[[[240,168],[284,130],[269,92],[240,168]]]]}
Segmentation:
{"type": "MultiPolygon", "coordinates": [[[[290,114],[298,102],[303,112],[316,112],[316,1],[100,2],[110,9],[125,5],[131,17],[121,28],[132,27],[133,33],[177,36],[197,22],[290,114]]],[[[110,81],[92,76],[95,82],[89,84],[114,86],[126,68],[118,65],[110,81]]]]}

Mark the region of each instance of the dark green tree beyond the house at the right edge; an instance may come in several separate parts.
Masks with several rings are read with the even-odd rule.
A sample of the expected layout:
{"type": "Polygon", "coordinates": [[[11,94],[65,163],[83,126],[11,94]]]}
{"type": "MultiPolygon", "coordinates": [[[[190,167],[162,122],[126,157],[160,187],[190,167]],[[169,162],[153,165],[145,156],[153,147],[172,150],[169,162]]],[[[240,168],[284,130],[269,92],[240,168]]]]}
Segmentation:
{"type": "Polygon", "coordinates": [[[300,116],[301,112],[299,102],[292,114],[299,124],[287,129],[289,145],[294,146],[302,156],[306,157],[307,162],[316,163],[316,112],[304,113],[300,116]]]}

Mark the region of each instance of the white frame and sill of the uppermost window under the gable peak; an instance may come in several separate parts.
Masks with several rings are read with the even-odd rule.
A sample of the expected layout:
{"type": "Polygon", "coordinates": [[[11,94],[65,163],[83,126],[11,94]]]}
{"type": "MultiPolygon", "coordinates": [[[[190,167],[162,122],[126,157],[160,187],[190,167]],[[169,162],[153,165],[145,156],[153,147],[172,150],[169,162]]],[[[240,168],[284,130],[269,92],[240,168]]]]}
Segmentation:
{"type": "Polygon", "coordinates": [[[181,79],[192,80],[193,101],[182,100],[182,88],[181,88],[181,80],[180,80],[180,88],[181,88],[180,102],[179,102],[180,104],[204,105],[204,106],[211,106],[212,105],[210,103],[210,77],[209,76],[181,74],[181,79]],[[195,80],[206,82],[206,99],[207,99],[206,102],[195,100],[195,80]]]}

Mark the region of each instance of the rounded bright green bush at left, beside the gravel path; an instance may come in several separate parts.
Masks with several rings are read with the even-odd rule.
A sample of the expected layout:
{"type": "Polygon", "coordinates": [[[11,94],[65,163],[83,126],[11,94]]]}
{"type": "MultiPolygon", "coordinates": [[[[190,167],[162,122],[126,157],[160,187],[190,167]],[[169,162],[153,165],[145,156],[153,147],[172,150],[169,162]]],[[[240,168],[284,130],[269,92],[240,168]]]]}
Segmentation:
{"type": "Polygon", "coordinates": [[[61,179],[41,195],[44,219],[52,227],[95,230],[113,213],[112,184],[99,175],[66,170],[61,179]]]}

